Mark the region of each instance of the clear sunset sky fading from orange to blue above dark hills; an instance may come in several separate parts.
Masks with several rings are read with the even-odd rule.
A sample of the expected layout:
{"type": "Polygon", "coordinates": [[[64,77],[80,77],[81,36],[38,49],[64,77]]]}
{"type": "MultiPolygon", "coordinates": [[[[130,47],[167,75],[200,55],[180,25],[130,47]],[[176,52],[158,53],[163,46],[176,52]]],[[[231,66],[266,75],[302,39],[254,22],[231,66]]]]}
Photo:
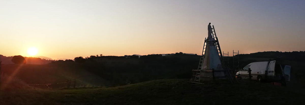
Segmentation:
{"type": "Polygon", "coordinates": [[[230,56],[305,51],[304,0],[1,0],[0,54],[200,54],[209,22],[230,56]]]}

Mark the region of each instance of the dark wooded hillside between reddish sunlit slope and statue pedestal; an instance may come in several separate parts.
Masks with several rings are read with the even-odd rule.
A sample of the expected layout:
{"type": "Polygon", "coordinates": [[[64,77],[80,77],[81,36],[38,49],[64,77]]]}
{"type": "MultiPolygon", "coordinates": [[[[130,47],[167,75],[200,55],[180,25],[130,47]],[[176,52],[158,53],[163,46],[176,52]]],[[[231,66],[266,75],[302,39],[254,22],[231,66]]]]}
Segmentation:
{"type": "Polygon", "coordinates": [[[83,63],[87,65],[85,69],[117,86],[164,78],[191,78],[192,69],[198,67],[200,56],[151,54],[140,58],[102,56],[93,59],[97,64],[90,63],[88,59],[83,63]]]}

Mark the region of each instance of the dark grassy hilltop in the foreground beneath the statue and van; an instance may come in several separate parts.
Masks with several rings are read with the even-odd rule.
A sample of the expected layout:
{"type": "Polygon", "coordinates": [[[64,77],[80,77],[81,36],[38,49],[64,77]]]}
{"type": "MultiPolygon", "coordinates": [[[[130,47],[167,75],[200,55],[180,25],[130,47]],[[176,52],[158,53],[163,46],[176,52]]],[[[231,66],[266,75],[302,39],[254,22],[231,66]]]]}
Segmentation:
{"type": "Polygon", "coordinates": [[[112,88],[39,90],[5,89],[1,105],[56,104],[305,104],[305,95],[267,83],[194,84],[186,79],[154,80],[112,88]]]}

